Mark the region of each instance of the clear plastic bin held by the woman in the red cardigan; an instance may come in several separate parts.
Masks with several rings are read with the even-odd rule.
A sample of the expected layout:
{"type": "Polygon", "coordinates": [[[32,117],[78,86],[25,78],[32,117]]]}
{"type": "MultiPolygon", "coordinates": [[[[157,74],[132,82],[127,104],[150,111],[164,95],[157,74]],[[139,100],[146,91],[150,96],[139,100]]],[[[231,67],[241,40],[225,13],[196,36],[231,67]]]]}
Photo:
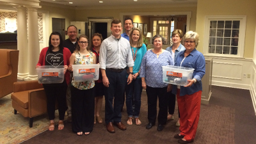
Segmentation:
{"type": "Polygon", "coordinates": [[[64,66],[53,67],[50,65],[40,66],[36,68],[38,75],[38,83],[63,83],[64,66]]]}

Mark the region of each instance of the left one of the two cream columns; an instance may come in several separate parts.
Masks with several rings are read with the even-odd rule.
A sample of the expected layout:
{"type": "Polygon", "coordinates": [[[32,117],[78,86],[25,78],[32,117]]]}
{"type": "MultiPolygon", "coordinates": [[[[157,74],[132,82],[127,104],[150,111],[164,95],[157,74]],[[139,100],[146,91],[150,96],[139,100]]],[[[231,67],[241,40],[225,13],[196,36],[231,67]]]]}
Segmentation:
{"type": "Polygon", "coordinates": [[[24,6],[17,7],[17,49],[19,50],[18,79],[28,77],[28,31],[24,6]]]}

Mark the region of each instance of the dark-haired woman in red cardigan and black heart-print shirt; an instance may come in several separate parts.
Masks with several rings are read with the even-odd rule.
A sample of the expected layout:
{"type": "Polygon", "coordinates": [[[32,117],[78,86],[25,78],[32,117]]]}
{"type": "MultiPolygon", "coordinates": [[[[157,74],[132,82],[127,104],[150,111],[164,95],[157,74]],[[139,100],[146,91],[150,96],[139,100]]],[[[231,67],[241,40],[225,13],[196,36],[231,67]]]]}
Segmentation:
{"type": "MultiPolygon", "coordinates": [[[[58,130],[62,130],[64,128],[63,120],[65,116],[65,111],[67,109],[66,106],[66,92],[67,92],[67,84],[70,81],[70,73],[67,71],[69,65],[69,58],[71,56],[70,51],[63,47],[63,40],[61,38],[60,33],[53,32],[49,38],[49,47],[45,47],[40,52],[39,60],[36,65],[36,68],[44,65],[53,66],[56,68],[64,67],[63,74],[65,74],[65,79],[63,83],[51,83],[51,84],[43,84],[45,95],[47,97],[47,112],[50,119],[49,131],[54,130],[54,117],[55,117],[55,102],[57,99],[58,102],[58,111],[60,115],[60,121],[58,125],[58,130]]],[[[60,78],[61,72],[45,72],[48,74],[49,79],[51,77],[60,78]],[[55,73],[55,76],[54,76],[55,73]],[[56,77],[56,74],[58,77],[56,77]]],[[[63,76],[63,75],[62,75],[63,76]]],[[[38,81],[44,81],[48,77],[41,77],[42,79],[38,79],[38,81]]]]}

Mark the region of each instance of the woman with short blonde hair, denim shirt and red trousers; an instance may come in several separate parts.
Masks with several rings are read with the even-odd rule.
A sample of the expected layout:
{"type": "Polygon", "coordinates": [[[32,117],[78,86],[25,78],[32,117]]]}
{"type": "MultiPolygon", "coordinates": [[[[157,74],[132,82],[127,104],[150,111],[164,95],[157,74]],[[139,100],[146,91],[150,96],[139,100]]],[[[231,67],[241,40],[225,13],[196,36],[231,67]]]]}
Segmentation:
{"type": "Polygon", "coordinates": [[[200,114],[202,77],[205,74],[204,55],[196,50],[199,36],[196,32],[188,31],[183,37],[185,51],[179,52],[175,66],[194,68],[193,79],[188,79],[186,86],[173,84],[172,92],[177,95],[180,111],[180,133],[174,138],[178,143],[191,143],[195,139],[200,114]]]}

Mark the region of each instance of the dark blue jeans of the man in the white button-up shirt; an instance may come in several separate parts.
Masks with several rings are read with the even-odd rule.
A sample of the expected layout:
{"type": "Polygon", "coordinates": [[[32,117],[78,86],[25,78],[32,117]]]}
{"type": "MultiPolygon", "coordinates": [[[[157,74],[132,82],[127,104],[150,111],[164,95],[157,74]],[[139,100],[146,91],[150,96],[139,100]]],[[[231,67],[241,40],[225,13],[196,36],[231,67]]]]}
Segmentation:
{"type": "Polygon", "coordinates": [[[125,84],[127,82],[126,74],[126,70],[123,70],[122,72],[106,70],[106,75],[109,81],[109,87],[107,88],[104,86],[106,124],[109,124],[109,122],[121,122],[123,94],[125,91],[125,84]]]}

